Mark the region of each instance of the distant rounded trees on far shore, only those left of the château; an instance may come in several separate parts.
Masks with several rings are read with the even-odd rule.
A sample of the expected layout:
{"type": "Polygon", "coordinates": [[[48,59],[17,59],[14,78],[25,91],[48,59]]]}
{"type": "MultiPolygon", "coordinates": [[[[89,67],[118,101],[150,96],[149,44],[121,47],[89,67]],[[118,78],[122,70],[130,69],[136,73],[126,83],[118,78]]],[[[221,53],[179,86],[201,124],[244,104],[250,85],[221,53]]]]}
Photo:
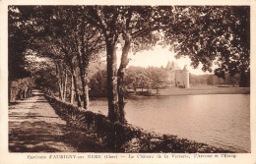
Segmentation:
{"type": "MultiPolygon", "coordinates": [[[[167,72],[163,68],[157,67],[129,67],[126,70],[124,77],[125,84],[125,95],[128,92],[128,89],[135,90],[137,88],[143,89],[156,89],[156,92],[159,93],[159,89],[166,86],[167,72]]],[[[90,79],[90,95],[92,96],[106,96],[106,71],[98,71],[90,79]]]]}

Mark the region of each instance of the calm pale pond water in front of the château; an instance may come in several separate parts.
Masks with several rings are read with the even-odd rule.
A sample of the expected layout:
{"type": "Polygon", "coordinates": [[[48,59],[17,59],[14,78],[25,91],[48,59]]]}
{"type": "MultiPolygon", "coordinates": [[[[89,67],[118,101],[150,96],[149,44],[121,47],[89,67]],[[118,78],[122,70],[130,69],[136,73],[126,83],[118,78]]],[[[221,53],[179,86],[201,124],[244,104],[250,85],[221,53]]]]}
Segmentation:
{"type": "MultiPolygon", "coordinates": [[[[106,99],[91,109],[107,115],[106,99]]],[[[250,94],[138,96],[125,106],[128,123],[236,152],[250,152],[250,94]]]]}

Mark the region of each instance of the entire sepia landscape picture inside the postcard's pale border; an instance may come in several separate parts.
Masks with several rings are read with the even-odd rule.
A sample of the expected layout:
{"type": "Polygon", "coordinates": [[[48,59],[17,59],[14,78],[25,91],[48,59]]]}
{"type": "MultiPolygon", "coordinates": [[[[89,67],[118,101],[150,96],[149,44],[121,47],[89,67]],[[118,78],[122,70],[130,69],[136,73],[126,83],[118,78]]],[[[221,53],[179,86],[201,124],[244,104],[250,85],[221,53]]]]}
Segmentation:
{"type": "Polygon", "coordinates": [[[8,153],[250,154],[251,10],[8,5],[8,153]]]}

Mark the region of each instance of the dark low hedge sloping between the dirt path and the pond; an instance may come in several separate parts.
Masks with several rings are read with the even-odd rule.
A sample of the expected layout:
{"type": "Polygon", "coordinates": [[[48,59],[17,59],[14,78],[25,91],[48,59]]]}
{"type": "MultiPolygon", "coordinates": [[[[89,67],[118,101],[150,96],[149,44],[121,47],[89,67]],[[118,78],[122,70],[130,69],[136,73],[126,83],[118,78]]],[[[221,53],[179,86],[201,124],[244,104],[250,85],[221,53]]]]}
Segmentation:
{"type": "MultiPolygon", "coordinates": [[[[230,152],[205,143],[191,141],[169,135],[157,135],[131,125],[110,123],[109,120],[91,111],[85,111],[54,97],[46,96],[56,113],[67,122],[70,129],[80,132],[71,143],[79,151],[94,152],[180,152],[180,153],[219,153],[230,152]],[[85,149],[90,138],[95,147],[85,149]],[[80,140],[81,139],[81,140],[80,140]]],[[[77,134],[77,133],[76,133],[77,134]]]]}

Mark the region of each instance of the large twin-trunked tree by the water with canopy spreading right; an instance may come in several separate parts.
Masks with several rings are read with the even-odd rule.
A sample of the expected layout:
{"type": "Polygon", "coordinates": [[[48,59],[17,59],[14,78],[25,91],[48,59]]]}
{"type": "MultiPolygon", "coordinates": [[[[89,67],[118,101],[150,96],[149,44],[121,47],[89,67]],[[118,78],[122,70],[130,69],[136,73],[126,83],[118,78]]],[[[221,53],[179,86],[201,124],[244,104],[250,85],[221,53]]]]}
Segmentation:
{"type": "MultiPolygon", "coordinates": [[[[156,36],[154,32],[161,31],[164,44],[171,45],[177,53],[176,57],[189,56],[194,67],[198,67],[201,62],[203,70],[211,72],[213,61],[216,59],[226,61],[226,58],[223,57],[226,56],[226,53],[231,52],[230,48],[234,48],[230,41],[237,31],[232,26],[237,27],[235,13],[241,14],[241,12],[235,12],[235,7],[205,6],[92,6],[89,7],[89,10],[87,20],[101,30],[105,39],[108,116],[110,120],[117,122],[124,120],[122,84],[124,71],[129,63],[127,54],[132,44],[139,45],[137,47],[144,45],[144,42],[135,40],[140,40],[139,38],[145,38],[145,36],[147,38],[147,35],[152,38],[156,36]],[[115,52],[118,38],[122,38],[124,44],[121,64],[116,73],[115,52]]],[[[246,7],[244,10],[247,10],[246,7]]],[[[237,18],[238,22],[241,22],[244,17],[237,18]]],[[[244,27],[242,26],[242,28],[244,27]]],[[[237,37],[241,36],[237,35],[237,37]]],[[[150,40],[150,44],[147,44],[147,39],[145,40],[145,45],[154,45],[154,41],[150,40]]],[[[246,45],[246,43],[241,45],[246,45]]],[[[244,47],[240,48],[241,50],[246,48],[246,46],[241,47],[244,47]]],[[[140,49],[144,48],[141,46],[140,49]]],[[[236,63],[241,63],[241,61],[236,63]]]]}

